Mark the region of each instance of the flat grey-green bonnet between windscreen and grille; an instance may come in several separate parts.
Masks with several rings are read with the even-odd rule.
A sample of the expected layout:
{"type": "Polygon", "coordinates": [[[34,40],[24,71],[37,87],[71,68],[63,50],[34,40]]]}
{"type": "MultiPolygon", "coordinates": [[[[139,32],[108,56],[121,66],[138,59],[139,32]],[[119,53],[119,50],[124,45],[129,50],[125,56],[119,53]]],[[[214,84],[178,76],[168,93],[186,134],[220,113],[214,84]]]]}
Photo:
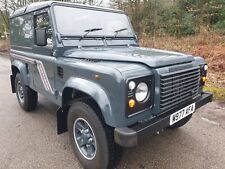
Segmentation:
{"type": "Polygon", "coordinates": [[[191,55],[140,47],[69,50],[65,52],[64,56],[80,59],[142,63],[151,68],[187,63],[194,60],[191,55]]]}

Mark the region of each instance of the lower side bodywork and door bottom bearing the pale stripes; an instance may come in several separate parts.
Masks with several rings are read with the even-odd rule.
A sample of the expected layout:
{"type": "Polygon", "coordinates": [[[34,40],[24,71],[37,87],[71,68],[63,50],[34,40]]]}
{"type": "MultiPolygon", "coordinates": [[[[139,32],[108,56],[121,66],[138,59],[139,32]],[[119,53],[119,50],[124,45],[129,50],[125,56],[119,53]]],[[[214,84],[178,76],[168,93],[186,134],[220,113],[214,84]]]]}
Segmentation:
{"type": "Polygon", "coordinates": [[[29,52],[20,52],[16,50],[11,50],[10,56],[12,64],[20,70],[20,73],[22,73],[24,77],[26,77],[26,85],[48,97],[55,103],[54,58],[48,58],[34,53],[31,56],[29,52]],[[41,59],[42,57],[45,59],[41,59]],[[50,60],[47,61],[46,58],[50,60]]]}

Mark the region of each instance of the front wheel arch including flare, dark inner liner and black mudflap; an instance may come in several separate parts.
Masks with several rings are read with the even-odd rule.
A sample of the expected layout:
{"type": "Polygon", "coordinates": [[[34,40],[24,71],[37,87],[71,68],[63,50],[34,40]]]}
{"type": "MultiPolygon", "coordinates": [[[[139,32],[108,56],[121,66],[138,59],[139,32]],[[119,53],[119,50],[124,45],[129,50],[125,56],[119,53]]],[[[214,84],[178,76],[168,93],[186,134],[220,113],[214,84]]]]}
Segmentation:
{"type": "Polygon", "coordinates": [[[64,85],[62,91],[61,109],[57,111],[58,119],[58,134],[61,134],[67,129],[66,117],[68,107],[73,101],[82,100],[89,104],[96,112],[100,113],[104,122],[114,127],[115,120],[112,113],[109,97],[105,90],[98,84],[81,78],[70,78],[64,85]],[[95,109],[96,108],[96,109],[95,109]],[[99,112],[100,111],[100,112],[99,112]]]}

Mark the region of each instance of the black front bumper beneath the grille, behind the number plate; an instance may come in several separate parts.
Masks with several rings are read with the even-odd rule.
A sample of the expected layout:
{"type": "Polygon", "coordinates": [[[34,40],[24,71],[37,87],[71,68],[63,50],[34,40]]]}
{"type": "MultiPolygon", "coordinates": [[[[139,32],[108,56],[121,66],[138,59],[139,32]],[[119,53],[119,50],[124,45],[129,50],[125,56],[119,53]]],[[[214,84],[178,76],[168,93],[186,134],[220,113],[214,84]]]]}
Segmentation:
{"type": "Polygon", "coordinates": [[[192,104],[196,103],[195,108],[198,109],[201,106],[212,101],[211,93],[203,93],[200,98],[194,101],[185,103],[176,109],[173,109],[165,114],[157,116],[146,123],[139,123],[130,127],[115,128],[114,139],[115,142],[122,147],[132,147],[138,144],[146,135],[153,135],[158,131],[169,126],[170,115],[174,112],[192,104]]]}

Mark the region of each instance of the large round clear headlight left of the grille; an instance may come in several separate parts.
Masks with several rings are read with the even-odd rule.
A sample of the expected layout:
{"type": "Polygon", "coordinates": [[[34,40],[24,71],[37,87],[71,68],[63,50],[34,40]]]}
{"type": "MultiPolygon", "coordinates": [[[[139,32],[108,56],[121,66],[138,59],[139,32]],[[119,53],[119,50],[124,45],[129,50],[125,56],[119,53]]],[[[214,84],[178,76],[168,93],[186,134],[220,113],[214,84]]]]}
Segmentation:
{"type": "Polygon", "coordinates": [[[138,102],[143,102],[148,97],[148,85],[144,82],[141,82],[137,85],[135,92],[135,97],[138,102]]]}

